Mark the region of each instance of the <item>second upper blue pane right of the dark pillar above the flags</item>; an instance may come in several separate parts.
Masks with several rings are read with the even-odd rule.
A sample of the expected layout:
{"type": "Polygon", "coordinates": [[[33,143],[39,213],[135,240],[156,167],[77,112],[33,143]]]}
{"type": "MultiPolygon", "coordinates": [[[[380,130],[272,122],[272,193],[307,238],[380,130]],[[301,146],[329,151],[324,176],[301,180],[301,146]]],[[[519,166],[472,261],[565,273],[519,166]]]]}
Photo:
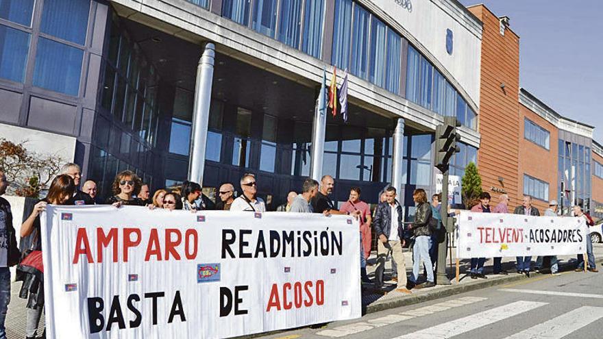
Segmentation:
{"type": "Polygon", "coordinates": [[[352,32],[352,64],[350,73],[367,79],[368,77],[368,45],[369,19],[371,14],[360,5],[354,7],[354,31],[352,32]]]}

